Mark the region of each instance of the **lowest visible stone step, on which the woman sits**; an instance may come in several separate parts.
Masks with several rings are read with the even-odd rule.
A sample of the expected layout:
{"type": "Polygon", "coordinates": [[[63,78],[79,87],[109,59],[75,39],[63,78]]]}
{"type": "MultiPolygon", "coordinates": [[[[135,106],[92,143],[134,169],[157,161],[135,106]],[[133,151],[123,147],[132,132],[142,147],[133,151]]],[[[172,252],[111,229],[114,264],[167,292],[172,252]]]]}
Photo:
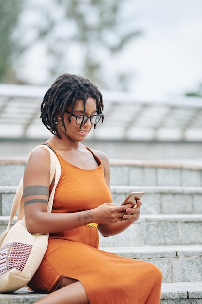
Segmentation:
{"type": "MultiPolygon", "coordinates": [[[[34,293],[23,287],[10,294],[0,294],[1,304],[32,304],[46,294],[34,293]]],[[[163,283],[160,304],[201,304],[201,282],[163,283]]]]}

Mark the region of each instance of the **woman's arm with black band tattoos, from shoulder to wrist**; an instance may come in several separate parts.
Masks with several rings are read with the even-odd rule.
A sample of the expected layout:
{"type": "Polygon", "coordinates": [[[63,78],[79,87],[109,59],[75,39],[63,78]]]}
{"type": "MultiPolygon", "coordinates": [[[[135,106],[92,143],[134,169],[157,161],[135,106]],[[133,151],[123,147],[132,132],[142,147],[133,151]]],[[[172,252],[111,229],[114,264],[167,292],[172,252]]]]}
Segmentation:
{"type": "Polygon", "coordinates": [[[24,172],[23,201],[26,226],[31,233],[52,233],[95,222],[92,210],[76,213],[47,213],[50,154],[44,148],[31,153],[24,172]]]}

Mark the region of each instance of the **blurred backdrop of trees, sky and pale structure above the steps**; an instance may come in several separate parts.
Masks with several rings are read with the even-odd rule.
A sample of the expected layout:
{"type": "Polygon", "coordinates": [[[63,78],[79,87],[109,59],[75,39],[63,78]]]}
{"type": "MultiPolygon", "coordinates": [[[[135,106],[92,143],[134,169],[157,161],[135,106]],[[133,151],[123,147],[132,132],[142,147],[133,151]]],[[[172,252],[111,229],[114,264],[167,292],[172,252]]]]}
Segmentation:
{"type": "Polygon", "coordinates": [[[201,0],[0,0],[0,157],[50,137],[40,104],[73,73],[104,97],[86,145],[202,163],[201,37],[201,0]]]}

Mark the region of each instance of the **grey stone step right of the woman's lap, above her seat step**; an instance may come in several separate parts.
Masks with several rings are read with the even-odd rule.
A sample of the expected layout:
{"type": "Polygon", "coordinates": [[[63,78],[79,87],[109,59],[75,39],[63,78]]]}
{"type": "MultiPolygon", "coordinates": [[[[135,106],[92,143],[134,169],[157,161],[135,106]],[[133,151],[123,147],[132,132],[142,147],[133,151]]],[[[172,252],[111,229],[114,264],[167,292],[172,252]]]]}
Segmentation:
{"type": "Polygon", "coordinates": [[[202,245],[101,246],[100,249],[155,264],[163,274],[163,282],[202,281],[202,245]]]}

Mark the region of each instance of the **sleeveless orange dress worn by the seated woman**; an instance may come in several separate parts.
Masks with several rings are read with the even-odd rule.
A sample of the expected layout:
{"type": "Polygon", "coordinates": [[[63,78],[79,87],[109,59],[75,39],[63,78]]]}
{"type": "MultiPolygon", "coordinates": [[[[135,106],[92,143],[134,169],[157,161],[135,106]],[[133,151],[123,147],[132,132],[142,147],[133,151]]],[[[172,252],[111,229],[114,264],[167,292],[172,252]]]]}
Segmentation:
{"type": "MultiPolygon", "coordinates": [[[[62,173],[52,212],[78,212],[112,202],[97,156],[93,154],[99,165],[92,170],[78,168],[57,156],[62,173]]],[[[50,234],[47,252],[28,286],[50,293],[62,277],[70,277],[82,283],[91,304],[160,303],[162,274],[155,265],[99,250],[98,244],[97,227],[50,234]]]]}

